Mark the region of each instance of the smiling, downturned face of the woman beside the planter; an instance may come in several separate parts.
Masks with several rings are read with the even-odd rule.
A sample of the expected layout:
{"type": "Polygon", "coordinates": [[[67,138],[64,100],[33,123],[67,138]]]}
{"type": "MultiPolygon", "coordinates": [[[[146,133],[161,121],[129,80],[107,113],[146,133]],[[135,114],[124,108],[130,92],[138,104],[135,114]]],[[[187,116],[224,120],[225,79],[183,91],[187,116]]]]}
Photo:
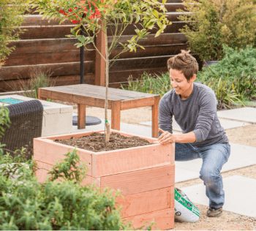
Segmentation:
{"type": "Polygon", "coordinates": [[[176,94],[181,96],[181,99],[187,99],[193,91],[193,83],[196,75],[188,81],[184,74],[178,69],[170,69],[170,83],[175,89],[176,94]]]}

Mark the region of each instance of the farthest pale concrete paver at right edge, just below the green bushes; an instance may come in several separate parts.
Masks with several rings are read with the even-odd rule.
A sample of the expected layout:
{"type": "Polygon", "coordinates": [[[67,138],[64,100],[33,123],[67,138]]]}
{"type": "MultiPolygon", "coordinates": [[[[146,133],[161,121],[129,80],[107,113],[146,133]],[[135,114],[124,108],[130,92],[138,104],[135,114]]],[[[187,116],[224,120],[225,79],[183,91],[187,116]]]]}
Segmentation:
{"type": "Polygon", "coordinates": [[[227,118],[234,121],[244,121],[246,123],[256,124],[255,107],[241,107],[231,110],[220,110],[217,113],[219,118],[227,118]]]}

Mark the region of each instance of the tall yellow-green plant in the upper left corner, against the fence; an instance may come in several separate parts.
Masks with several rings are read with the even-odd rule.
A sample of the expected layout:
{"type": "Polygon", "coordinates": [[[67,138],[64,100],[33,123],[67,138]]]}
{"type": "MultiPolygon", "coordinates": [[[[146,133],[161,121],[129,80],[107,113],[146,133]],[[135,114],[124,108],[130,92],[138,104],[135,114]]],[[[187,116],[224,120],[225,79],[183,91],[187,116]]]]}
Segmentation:
{"type": "Polygon", "coordinates": [[[0,67],[4,60],[15,49],[10,42],[17,40],[21,33],[23,13],[29,7],[29,0],[1,0],[0,1],[0,67]]]}

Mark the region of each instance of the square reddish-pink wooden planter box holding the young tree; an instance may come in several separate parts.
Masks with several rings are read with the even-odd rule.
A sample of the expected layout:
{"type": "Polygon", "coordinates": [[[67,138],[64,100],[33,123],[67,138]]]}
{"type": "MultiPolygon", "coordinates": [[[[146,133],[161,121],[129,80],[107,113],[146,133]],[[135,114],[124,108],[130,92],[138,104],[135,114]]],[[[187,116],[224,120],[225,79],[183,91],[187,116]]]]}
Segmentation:
{"type": "MultiPolygon", "coordinates": [[[[74,149],[53,140],[82,137],[91,133],[34,139],[38,180],[45,181],[53,164],[64,159],[64,154],[74,149]]],[[[107,186],[119,189],[122,196],[116,202],[121,205],[121,215],[131,221],[135,228],[154,221],[154,229],[171,229],[174,227],[174,145],[160,145],[154,143],[157,140],[155,138],[143,138],[152,145],[97,153],[76,148],[80,159],[88,167],[83,183],[95,183],[101,189],[107,186]]]]}

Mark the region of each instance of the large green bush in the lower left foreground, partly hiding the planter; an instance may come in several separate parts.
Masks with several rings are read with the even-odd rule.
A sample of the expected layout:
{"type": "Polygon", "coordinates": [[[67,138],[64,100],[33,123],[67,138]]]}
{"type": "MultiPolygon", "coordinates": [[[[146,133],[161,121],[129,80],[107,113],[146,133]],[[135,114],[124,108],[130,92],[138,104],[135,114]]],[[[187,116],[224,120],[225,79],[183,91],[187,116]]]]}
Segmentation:
{"type": "Polygon", "coordinates": [[[33,162],[21,164],[12,156],[0,156],[2,167],[0,168],[0,229],[124,230],[129,228],[121,223],[119,212],[115,208],[113,192],[105,190],[101,193],[94,186],[80,186],[79,181],[75,181],[76,177],[71,181],[73,174],[69,167],[71,165],[74,167],[73,164],[78,162],[79,158],[75,151],[67,154],[67,158],[62,163],[67,167],[61,169],[59,169],[60,165],[54,167],[55,170],[59,169],[60,175],[69,173],[66,175],[66,180],[40,184],[33,175],[33,162]],[[10,170],[14,167],[18,169],[15,173],[10,170]]]}

